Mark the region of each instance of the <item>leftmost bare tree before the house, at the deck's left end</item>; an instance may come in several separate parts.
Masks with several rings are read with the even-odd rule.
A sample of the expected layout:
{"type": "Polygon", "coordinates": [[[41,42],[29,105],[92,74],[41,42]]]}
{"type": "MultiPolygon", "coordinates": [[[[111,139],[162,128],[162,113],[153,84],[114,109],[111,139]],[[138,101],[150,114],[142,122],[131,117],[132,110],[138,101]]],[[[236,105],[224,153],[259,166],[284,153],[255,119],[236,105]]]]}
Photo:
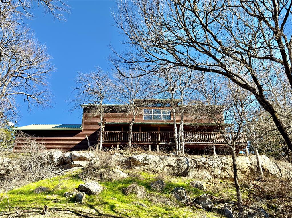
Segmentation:
{"type": "Polygon", "coordinates": [[[100,116],[100,132],[99,132],[99,151],[102,148],[102,138],[104,130],[104,114],[105,101],[110,99],[111,80],[108,73],[103,72],[101,68],[96,68],[96,71],[90,73],[79,73],[76,78],[76,87],[74,88],[75,99],[73,100],[73,109],[76,109],[80,104],[88,104],[87,109],[92,116],[100,116]]]}

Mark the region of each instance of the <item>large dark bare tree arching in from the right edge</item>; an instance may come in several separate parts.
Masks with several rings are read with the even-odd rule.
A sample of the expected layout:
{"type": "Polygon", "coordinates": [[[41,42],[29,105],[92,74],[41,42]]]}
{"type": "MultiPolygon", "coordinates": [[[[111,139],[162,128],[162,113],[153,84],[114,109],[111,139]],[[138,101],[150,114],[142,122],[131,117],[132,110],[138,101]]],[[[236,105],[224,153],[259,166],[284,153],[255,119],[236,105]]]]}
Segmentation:
{"type": "Polygon", "coordinates": [[[291,106],[277,104],[292,102],[291,7],[268,0],[121,0],[114,18],[127,46],[112,61],[144,74],[168,65],[223,75],[255,96],[292,150],[285,115],[291,106]]]}

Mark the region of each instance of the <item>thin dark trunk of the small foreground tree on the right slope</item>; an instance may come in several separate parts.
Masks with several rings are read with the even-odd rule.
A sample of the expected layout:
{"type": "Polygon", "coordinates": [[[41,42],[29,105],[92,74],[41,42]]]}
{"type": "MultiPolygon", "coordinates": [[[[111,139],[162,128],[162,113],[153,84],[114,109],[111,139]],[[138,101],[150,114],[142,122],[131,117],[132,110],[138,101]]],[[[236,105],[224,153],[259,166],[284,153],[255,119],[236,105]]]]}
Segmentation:
{"type": "Polygon", "coordinates": [[[238,181],[238,174],[237,174],[237,162],[236,162],[236,153],[235,153],[235,146],[232,146],[232,164],[233,164],[233,174],[234,174],[234,185],[237,195],[237,207],[238,207],[238,218],[244,218],[243,214],[243,206],[242,206],[242,197],[240,191],[240,185],[238,181]]]}

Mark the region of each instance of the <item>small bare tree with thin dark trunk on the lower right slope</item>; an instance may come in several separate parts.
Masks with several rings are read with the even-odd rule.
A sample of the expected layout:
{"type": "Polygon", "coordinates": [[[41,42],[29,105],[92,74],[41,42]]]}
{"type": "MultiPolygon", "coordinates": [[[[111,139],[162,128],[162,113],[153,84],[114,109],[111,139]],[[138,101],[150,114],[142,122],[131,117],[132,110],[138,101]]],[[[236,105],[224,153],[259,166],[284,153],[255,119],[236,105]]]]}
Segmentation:
{"type": "Polygon", "coordinates": [[[239,217],[243,215],[242,197],[237,174],[238,144],[254,119],[255,98],[248,91],[224,78],[207,77],[201,84],[201,111],[208,114],[218,127],[221,137],[232,154],[234,185],[237,193],[239,217]],[[222,114],[222,116],[218,116],[222,114]]]}

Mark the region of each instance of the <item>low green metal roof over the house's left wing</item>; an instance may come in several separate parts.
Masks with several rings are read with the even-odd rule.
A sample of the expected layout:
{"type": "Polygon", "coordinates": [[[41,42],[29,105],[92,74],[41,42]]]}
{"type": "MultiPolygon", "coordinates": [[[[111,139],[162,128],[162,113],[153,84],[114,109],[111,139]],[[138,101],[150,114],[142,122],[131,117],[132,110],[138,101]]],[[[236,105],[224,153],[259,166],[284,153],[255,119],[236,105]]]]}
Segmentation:
{"type": "Polygon", "coordinates": [[[54,124],[54,125],[42,125],[32,124],[21,127],[14,127],[13,130],[82,130],[81,124],[54,124]]]}

